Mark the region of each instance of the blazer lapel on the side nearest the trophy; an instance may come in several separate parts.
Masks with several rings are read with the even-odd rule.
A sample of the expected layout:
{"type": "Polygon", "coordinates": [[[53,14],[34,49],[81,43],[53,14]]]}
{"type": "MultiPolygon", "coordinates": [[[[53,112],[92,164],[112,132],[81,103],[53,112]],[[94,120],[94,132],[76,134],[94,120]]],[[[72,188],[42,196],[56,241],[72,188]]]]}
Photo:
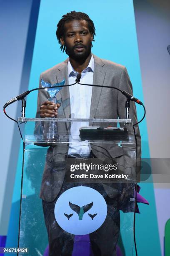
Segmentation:
{"type": "MultiPolygon", "coordinates": [[[[58,67],[56,72],[56,79],[57,82],[61,82],[63,79],[65,79],[65,84],[68,84],[68,74],[67,74],[67,62],[68,59],[58,67]]],[[[62,97],[62,105],[64,110],[65,118],[70,118],[70,93],[69,93],[69,87],[62,87],[62,90],[60,90],[60,94],[62,97]]]]}

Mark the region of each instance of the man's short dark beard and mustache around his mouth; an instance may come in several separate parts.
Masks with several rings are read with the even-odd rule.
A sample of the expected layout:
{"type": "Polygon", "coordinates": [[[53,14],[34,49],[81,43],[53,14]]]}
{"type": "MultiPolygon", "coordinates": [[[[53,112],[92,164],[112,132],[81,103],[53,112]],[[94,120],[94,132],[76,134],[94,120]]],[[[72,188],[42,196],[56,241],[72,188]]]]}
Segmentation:
{"type": "Polygon", "coordinates": [[[66,54],[72,58],[72,59],[75,59],[75,60],[85,60],[87,59],[87,57],[90,55],[91,53],[91,48],[92,48],[92,44],[90,43],[88,46],[85,46],[83,44],[77,44],[75,45],[74,47],[68,47],[66,46],[66,54]],[[76,48],[76,46],[83,46],[85,51],[83,52],[75,52],[74,49],[76,48]]]}

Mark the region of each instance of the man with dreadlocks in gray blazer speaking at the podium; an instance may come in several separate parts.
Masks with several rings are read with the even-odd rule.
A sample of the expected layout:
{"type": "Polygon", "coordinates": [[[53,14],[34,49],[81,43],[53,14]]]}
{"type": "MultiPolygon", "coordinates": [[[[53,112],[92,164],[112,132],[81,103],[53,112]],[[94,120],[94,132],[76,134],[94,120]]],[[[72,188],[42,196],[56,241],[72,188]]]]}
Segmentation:
{"type": "MultiPolygon", "coordinates": [[[[71,11],[62,16],[57,24],[57,40],[60,49],[69,56],[64,62],[43,72],[40,81],[55,84],[65,79],[66,84],[75,82],[78,73],[81,73],[80,82],[83,84],[109,85],[125,90],[132,94],[132,84],[130,82],[125,67],[111,61],[100,59],[91,53],[92,41],[95,36],[95,26],[89,16],[85,13],[71,11]]],[[[41,86],[41,85],[40,85],[41,86]]],[[[62,103],[55,105],[47,101],[47,92],[40,90],[38,95],[36,117],[58,118],[125,118],[125,98],[117,90],[110,88],[78,86],[63,87],[57,94],[62,97],[62,103]],[[103,90],[105,89],[105,90],[103,90]]],[[[137,122],[135,104],[130,106],[130,118],[133,123],[137,122]]],[[[79,129],[80,126],[72,125],[71,133],[79,129]]],[[[64,129],[64,127],[63,127],[64,129]]],[[[136,127],[138,140],[138,155],[140,157],[140,133],[136,127]]],[[[71,142],[71,141],[70,141],[71,142]]],[[[116,148],[90,148],[85,144],[83,147],[69,146],[63,143],[50,147],[47,151],[45,171],[42,178],[40,197],[42,198],[45,223],[49,238],[49,255],[72,255],[74,245],[74,235],[65,232],[57,224],[54,216],[54,207],[58,197],[70,188],[73,184],[65,183],[65,171],[61,163],[65,163],[67,157],[75,158],[104,158],[108,153],[108,158],[116,158],[122,161],[123,149],[116,148]],[[60,166],[60,168],[58,167],[60,166]]],[[[124,157],[124,156],[123,156],[124,157]]],[[[107,184],[97,184],[98,191],[107,201],[107,218],[104,224],[91,233],[90,246],[94,256],[115,256],[116,243],[120,231],[119,210],[128,212],[127,204],[120,204],[118,196],[115,197],[115,189],[107,184]],[[124,206],[125,205],[125,206],[124,206]]],[[[93,186],[93,188],[96,188],[93,186]]],[[[97,189],[96,188],[96,189],[97,189]]],[[[121,201],[125,189],[122,189],[121,201]]],[[[82,252],[83,253],[83,252],[82,252]]]]}

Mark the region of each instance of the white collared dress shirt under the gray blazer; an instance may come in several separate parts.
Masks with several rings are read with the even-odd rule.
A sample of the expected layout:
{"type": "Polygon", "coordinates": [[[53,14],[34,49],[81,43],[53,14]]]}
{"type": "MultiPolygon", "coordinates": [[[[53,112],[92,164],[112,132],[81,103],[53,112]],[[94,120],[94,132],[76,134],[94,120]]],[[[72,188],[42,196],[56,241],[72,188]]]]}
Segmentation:
{"type": "MultiPolygon", "coordinates": [[[[68,69],[68,83],[73,84],[77,77],[78,72],[75,72],[71,66],[70,61],[67,64],[68,69]]],[[[90,62],[86,69],[82,71],[80,83],[93,84],[93,72],[94,72],[94,58],[90,59],[90,62]]],[[[90,105],[92,98],[92,86],[75,84],[69,87],[70,92],[70,109],[71,118],[90,118],[90,105]]],[[[74,135],[79,134],[79,129],[82,126],[89,126],[88,122],[74,122],[71,125],[71,136],[68,154],[77,157],[88,157],[90,149],[88,142],[81,143],[81,146],[77,143],[79,140],[74,135]]]]}

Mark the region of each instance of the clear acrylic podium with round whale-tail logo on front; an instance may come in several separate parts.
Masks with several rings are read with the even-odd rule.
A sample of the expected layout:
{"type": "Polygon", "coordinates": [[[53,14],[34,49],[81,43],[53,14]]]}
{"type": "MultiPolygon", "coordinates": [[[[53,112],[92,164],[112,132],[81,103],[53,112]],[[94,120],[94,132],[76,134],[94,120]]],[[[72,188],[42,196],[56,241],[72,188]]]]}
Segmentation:
{"type": "Polygon", "coordinates": [[[133,255],[136,144],[131,120],[18,118],[18,124],[25,142],[19,247],[28,248],[30,256],[50,255],[51,228],[53,255],[115,256],[119,248],[133,255]],[[76,123],[81,123],[78,130],[76,123]],[[71,146],[79,148],[79,156],[68,156],[71,146]],[[88,156],[81,148],[89,150],[88,156]],[[53,210],[47,204],[44,217],[42,199],[55,206],[48,225],[45,218],[53,210]],[[62,244],[58,252],[54,243],[62,244]]]}

